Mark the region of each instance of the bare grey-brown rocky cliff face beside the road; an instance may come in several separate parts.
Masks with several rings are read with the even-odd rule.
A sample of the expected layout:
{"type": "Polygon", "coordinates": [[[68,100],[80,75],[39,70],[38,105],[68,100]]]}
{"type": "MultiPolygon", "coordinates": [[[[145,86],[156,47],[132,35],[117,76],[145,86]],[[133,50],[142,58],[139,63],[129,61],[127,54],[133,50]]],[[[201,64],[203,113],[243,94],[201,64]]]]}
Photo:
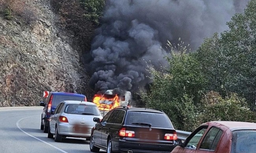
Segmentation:
{"type": "Polygon", "coordinates": [[[81,53],[69,45],[48,0],[27,3],[37,8],[31,24],[0,16],[0,107],[39,105],[44,90],[86,94],[81,53]]]}

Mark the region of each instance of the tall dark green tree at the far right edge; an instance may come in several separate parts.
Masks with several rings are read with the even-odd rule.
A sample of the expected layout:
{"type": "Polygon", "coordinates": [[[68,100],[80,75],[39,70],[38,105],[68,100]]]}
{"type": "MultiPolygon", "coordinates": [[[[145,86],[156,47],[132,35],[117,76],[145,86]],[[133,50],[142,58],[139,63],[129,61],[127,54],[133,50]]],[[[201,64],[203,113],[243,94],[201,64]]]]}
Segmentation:
{"type": "Polygon", "coordinates": [[[244,14],[236,14],[227,23],[230,30],[221,34],[221,44],[229,78],[228,90],[253,100],[256,90],[256,0],[251,0],[244,14]]]}

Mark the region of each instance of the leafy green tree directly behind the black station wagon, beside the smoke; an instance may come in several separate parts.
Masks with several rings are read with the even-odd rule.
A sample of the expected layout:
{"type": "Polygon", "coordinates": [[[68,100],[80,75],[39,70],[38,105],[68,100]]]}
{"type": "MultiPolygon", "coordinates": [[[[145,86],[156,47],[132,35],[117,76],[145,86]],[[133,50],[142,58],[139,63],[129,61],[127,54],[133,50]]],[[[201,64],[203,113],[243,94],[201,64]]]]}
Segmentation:
{"type": "Polygon", "coordinates": [[[201,72],[200,63],[193,54],[187,53],[187,46],[180,41],[178,48],[167,44],[170,56],[166,57],[169,68],[155,70],[150,67],[153,82],[141,98],[147,107],[162,109],[173,121],[177,129],[193,129],[195,105],[200,102],[200,91],[206,80],[201,72]]]}

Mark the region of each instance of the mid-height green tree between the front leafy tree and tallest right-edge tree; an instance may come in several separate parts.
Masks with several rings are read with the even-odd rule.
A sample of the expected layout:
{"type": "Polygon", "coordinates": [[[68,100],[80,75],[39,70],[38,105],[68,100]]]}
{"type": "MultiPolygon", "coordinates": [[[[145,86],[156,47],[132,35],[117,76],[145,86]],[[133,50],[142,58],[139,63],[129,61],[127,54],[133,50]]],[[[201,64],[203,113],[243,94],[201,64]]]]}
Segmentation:
{"type": "Polygon", "coordinates": [[[214,33],[211,38],[204,40],[194,55],[200,62],[202,72],[208,80],[205,92],[215,90],[225,97],[228,96],[225,88],[228,66],[220,41],[218,34],[214,33]]]}

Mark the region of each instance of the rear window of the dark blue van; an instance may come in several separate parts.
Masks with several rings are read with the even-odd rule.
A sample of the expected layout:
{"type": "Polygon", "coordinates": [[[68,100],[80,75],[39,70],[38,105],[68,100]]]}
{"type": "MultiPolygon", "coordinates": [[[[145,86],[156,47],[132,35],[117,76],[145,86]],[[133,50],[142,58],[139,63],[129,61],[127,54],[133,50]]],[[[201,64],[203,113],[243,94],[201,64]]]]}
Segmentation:
{"type": "Polygon", "coordinates": [[[85,101],[85,97],[71,96],[71,95],[53,95],[52,106],[57,106],[61,101],[64,100],[77,100],[85,101]]]}

